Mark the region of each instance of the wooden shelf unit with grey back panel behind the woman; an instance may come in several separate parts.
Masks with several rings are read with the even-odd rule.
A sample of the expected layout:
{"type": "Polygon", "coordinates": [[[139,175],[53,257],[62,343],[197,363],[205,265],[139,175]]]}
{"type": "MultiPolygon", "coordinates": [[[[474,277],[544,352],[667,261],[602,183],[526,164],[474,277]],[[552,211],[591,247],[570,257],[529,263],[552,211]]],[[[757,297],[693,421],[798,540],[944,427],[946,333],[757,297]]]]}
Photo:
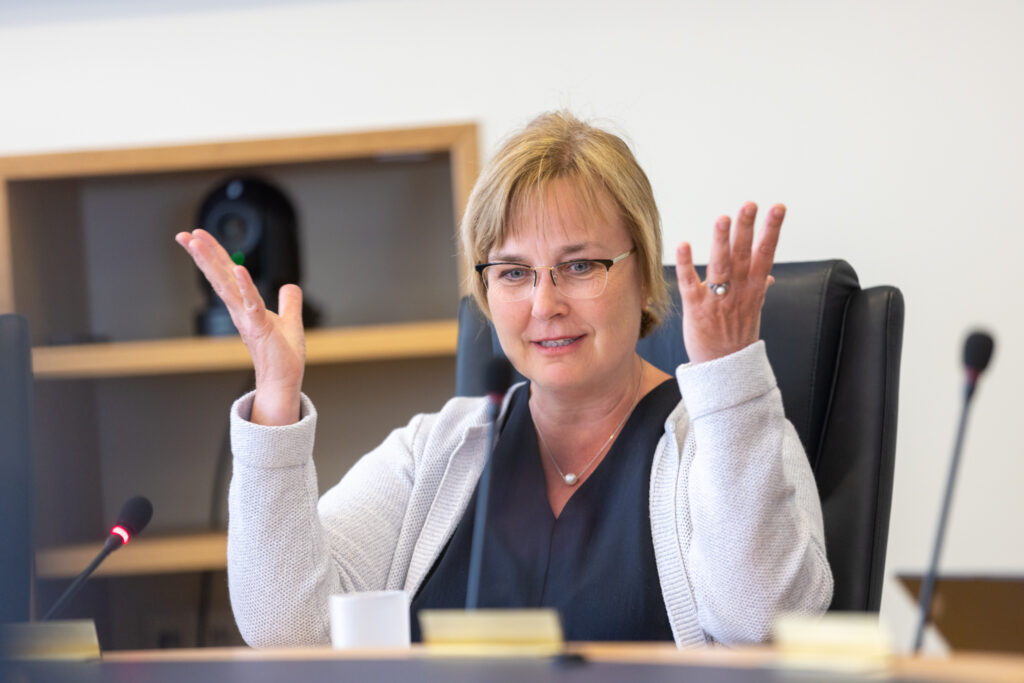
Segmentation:
{"type": "Polygon", "coordinates": [[[324,414],[354,414],[343,438],[345,420],[322,418],[314,458],[329,485],[383,425],[451,396],[465,274],[455,228],[477,164],[474,124],[0,158],[0,313],[25,314],[34,344],[37,580],[84,568],[128,488],[154,498],[157,528],[99,575],[225,566],[202,508],[251,362],[237,337],[188,336],[198,270],[171,240],[206,191],[256,175],[296,205],[303,288],[325,313],[307,330],[305,385],[324,414]]]}

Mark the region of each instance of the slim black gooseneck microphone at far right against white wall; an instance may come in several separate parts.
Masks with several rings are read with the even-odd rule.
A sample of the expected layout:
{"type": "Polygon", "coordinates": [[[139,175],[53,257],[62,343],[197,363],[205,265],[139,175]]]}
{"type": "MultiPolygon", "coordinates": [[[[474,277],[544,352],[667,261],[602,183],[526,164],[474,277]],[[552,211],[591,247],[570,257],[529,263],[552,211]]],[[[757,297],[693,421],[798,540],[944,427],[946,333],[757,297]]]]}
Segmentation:
{"type": "Polygon", "coordinates": [[[953,497],[953,484],[956,481],[956,469],[959,466],[961,451],[964,446],[964,430],[967,426],[968,409],[971,398],[978,385],[978,378],[985,372],[988,361],[992,359],[992,349],[995,342],[991,335],[984,332],[973,332],[964,343],[964,367],[967,379],[964,385],[964,405],[961,409],[959,426],[956,428],[956,441],[953,445],[953,458],[949,465],[949,475],[946,477],[946,493],[942,499],[942,512],[939,515],[939,528],[935,533],[935,545],[932,548],[932,561],[928,565],[928,573],[921,584],[920,607],[918,614],[918,631],[913,639],[913,651],[920,652],[925,640],[925,627],[932,610],[932,593],[935,589],[935,572],[939,565],[939,555],[942,554],[942,542],[946,535],[946,520],[949,517],[949,504],[953,497]]]}

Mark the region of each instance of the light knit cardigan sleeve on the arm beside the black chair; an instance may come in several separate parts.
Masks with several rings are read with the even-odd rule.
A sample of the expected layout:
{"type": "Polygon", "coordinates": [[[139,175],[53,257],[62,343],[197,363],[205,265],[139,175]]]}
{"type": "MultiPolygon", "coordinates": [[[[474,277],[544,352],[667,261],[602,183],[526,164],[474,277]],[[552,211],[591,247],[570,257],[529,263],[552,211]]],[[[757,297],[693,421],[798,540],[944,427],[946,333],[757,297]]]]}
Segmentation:
{"type": "Polygon", "coordinates": [[[715,641],[763,642],[779,613],[821,612],[831,599],[814,476],[764,342],[681,366],[677,379],[697,617],[715,641]]]}

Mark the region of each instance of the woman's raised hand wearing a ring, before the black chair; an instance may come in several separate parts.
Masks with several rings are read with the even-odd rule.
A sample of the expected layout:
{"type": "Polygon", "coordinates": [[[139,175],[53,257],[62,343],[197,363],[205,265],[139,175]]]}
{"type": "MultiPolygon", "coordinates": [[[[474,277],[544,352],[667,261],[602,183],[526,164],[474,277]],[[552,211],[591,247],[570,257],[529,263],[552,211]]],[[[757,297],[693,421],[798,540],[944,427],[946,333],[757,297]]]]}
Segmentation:
{"type": "Polygon", "coordinates": [[[721,216],[715,222],[708,284],[697,276],[689,243],[684,242],[676,249],[676,276],[683,303],[683,343],[691,362],[734,353],[761,337],[761,307],[765,292],[774,282],[769,273],[785,207],[776,204],[768,211],[755,242],[757,213],[754,202],[740,208],[731,241],[729,217],[721,216]],[[726,291],[716,294],[710,285],[725,285],[726,291]]]}

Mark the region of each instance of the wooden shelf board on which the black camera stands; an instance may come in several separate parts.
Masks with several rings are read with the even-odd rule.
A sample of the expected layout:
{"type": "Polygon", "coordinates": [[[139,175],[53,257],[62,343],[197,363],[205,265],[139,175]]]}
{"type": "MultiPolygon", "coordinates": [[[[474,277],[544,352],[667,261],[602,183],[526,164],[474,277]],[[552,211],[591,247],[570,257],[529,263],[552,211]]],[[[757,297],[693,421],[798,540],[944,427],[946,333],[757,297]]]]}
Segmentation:
{"type": "MultiPolygon", "coordinates": [[[[306,364],[356,362],[452,355],[457,321],[310,330],[306,364]]],[[[37,379],[88,379],[245,370],[249,352],[238,337],[39,346],[32,350],[37,379]]]]}

